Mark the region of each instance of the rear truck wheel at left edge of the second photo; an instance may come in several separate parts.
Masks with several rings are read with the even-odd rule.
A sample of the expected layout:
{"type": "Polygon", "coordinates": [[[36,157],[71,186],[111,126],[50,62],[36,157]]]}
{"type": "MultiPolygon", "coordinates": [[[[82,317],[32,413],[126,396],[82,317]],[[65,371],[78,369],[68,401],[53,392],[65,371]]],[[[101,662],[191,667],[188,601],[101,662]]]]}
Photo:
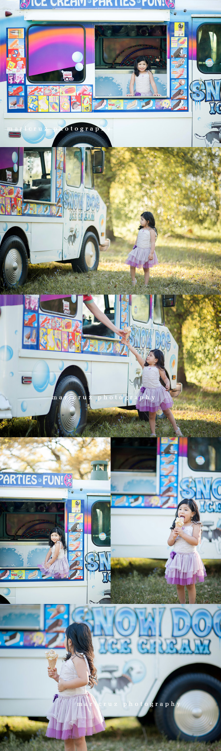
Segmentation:
{"type": "Polygon", "coordinates": [[[6,237],[0,249],[0,278],[8,288],[22,286],[28,276],[28,253],[20,237],[6,237]]]}

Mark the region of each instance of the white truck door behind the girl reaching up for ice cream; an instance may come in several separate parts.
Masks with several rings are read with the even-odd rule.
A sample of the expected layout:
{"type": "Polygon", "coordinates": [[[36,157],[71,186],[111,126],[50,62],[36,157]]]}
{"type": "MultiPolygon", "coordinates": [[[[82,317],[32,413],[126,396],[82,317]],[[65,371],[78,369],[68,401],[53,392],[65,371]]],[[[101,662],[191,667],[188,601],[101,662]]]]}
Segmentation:
{"type": "MultiPolygon", "coordinates": [[[[130,342],[142,357],[151,348],[152,321],[150,318],[150,295],[133,294],[130,306],[130,342]],[[148,327],[147,327],[148,324],[148,327]]],[[[136,404],[136,397],[142,386],[142,366],[135,355],[129,353],[128,404],[136,404]]]]}

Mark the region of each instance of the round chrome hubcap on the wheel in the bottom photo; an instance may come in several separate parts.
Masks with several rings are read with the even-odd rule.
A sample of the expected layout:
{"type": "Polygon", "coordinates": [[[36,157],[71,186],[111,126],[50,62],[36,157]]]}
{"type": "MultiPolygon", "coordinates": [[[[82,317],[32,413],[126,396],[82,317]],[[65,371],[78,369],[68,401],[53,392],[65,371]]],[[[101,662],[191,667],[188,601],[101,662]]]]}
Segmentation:
{"type": "Polygon", "coordinates": [[[174,719],[186,735],[207,735],[217,725],[220,710],[214,696],[207,691],[187,691],[178,698],[174,719]]]}

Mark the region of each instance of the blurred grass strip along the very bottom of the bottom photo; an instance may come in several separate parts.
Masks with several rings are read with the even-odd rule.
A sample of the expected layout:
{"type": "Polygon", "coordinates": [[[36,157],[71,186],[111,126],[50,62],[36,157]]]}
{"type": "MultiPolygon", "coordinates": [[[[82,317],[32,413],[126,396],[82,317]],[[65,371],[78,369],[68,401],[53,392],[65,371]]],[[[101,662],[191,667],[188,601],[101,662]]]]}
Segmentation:
{"type": "MultiPolygon", "coordinates": [[[[62,740],[47,740],[46,722],[28,717],[1,717],[1,751],[64,751],[62,740]],[[32,737],[31,737],[32,736],[32,737]]],[[[88,751],[221,751],[221,740],[208,744],[196,740],[166,740],[155,725],[141,725],[136,717],[106,720],[106,731],[87,739],[88,751]]]]}

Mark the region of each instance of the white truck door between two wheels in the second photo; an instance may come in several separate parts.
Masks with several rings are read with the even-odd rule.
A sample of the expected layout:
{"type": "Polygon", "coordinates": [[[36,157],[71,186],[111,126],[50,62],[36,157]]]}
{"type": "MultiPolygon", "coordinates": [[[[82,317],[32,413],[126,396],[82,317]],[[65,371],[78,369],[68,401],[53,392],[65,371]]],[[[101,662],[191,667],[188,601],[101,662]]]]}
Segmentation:
{"type": "Polygon", "coordinates": [[[65,149],[63,261],[78,258],[83,230],[83,148],[65,149]]]}

